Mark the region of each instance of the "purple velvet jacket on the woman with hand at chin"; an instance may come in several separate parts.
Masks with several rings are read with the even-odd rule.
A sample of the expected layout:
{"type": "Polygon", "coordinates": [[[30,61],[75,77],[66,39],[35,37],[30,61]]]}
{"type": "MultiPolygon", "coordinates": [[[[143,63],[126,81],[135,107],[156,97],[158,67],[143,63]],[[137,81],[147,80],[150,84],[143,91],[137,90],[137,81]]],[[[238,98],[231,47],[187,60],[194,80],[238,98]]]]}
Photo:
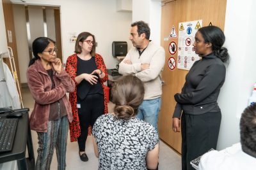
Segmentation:
{"type": "Polygon", "coordinates": [[[68,121],[72,122],[72,110],[66,92],[75,90],[75,83],[63,69],[60,74],[53,71],[55,88],[51,89],[51,78],[41,64],[36,60],[27,70],[28,87],[35,99],[35,106],[29,118],[30,127],[36,132],[47,132],[50,104],[63,100],[68,113],[68,121]]]}

